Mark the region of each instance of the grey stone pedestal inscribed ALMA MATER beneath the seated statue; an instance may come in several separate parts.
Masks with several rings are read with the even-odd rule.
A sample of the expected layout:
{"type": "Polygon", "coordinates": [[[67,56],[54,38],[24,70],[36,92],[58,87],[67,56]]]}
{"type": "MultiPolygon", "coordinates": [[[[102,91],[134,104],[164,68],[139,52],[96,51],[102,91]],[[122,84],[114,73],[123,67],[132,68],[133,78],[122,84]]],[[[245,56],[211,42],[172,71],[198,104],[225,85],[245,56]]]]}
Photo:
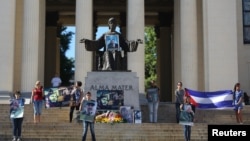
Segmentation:
{"type": "Polygon", "coordinates": [[[92,93],[101,109],[131,106],[140,110],[139,78],[135,72],[88,72],[84,91],[92,93]]]}

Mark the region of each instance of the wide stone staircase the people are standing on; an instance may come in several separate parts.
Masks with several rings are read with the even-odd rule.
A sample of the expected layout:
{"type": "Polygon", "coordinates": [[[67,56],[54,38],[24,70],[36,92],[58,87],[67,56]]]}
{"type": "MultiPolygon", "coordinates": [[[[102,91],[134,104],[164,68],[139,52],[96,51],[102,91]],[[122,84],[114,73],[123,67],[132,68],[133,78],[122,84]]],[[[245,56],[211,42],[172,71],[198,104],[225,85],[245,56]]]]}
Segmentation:
{"type": "MultiPolygon", "coordinates": [[[[172,103],[160,103],[158,123],[148,123],[147,105],[141,105],[142,124],[95,124],[97,141],[183,141],[182,126],[175,123],[172,103]]],[[[0,141],[11,140],[9,105],[0,104],[0,141]]],[[[33,123],[32,105],[25,105],[22,137],[24,141],[80,141],[81,123],[69,123],[69,108],[43,109],[41,123],[33,123]]],[[[243,111],[244,124],[250,125],[250,106],[243,111]]],[[[192,127],[192,141],[207,141],[208,124],[236,124],[232,110],[198,110],[192,127]]],[[[88,131],[87,140],[91,140],[88,131]]]]}

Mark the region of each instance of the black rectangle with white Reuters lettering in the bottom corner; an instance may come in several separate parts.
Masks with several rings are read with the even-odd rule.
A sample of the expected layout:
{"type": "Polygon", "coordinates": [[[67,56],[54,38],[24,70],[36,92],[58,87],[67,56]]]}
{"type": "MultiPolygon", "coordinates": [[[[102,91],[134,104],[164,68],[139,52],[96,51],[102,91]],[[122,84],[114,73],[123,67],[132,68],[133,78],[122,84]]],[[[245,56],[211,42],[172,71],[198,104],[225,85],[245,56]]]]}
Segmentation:
{"type": "Polygon", "coordinates": [[[208,125],[208,141],[237,139],[246,141],[250,137],[250,125],[208,125]]]}

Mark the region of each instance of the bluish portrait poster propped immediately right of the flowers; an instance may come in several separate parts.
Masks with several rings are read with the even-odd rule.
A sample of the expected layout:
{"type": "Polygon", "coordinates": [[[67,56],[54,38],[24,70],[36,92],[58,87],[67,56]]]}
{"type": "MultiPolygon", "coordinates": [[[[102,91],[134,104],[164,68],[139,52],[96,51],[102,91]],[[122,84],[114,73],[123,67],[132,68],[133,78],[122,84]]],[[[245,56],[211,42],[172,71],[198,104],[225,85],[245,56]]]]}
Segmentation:
{"type": "Polygon", "coordinates": [[[126,123],[134,123],[134,110],[131,106],[121,106],[120,114],[126,123]]]}

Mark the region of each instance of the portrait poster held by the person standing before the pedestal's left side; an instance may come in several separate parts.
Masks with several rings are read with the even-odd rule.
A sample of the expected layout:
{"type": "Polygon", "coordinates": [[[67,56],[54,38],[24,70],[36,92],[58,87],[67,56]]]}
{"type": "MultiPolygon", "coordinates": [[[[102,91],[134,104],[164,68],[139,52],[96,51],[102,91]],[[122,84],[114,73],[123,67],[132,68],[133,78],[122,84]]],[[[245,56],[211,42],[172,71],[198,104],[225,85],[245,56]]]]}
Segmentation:
{"type": "Polygon", "coordinates": [[[82,103],[82,111],[80,113],[80,120],[93,122],[96,114],[96,101],[84,100],[82,103]]]}

